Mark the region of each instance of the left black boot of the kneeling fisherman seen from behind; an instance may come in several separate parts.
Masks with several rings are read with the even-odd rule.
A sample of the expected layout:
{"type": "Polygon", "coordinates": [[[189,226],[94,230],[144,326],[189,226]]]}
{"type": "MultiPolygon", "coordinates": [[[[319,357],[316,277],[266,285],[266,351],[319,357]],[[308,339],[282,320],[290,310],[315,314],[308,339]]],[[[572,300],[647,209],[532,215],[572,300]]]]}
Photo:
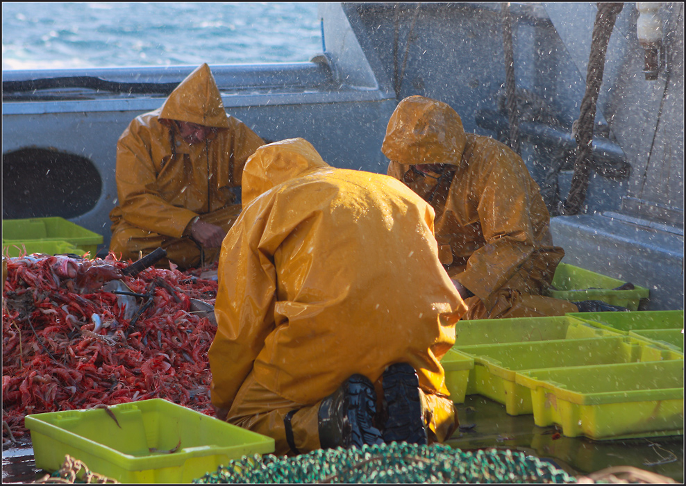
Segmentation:
{"type": "Polygon", "coordinates": [[[321,449],[383,444],[380,431],[372,424],[374,414],[374,385],[366,376],[351,376],[319,405],[321,449]]]}

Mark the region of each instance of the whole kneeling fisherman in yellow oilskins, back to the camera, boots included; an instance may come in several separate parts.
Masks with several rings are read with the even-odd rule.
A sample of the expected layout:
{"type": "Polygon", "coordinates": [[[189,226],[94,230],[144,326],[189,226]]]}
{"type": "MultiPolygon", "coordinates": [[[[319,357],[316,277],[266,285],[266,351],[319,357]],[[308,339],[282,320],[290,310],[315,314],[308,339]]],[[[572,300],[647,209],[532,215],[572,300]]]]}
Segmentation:
{"type": "Polygon", "coordinates": [[[447,439],[457,417],[439,361],[466,307],[433,209],[301,138],[249,158],[242,198],[219,258],[217,417],[274,437],[277,454],[447,439]]]}

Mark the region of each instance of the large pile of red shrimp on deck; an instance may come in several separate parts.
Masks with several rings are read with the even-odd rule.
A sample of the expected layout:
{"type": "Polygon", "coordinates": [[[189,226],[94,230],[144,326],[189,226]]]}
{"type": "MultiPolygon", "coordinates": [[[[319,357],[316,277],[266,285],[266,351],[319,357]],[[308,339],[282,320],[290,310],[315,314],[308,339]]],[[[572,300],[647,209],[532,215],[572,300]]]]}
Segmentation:
{"type": "Polygon", "coordinates": [[[104,260],[34,254],[7,264],[3,445],[26,436],[27,414],[152,398],[212,414],[207,351],[215,325],[191,310],[190,299],[213,305],[216,280],[157,268],[124,276],[127,264],[111,253],[104,260]],[[129,296],[127,308],[125,296],[103,290],[108,280],[139,296],[129,296]]]}

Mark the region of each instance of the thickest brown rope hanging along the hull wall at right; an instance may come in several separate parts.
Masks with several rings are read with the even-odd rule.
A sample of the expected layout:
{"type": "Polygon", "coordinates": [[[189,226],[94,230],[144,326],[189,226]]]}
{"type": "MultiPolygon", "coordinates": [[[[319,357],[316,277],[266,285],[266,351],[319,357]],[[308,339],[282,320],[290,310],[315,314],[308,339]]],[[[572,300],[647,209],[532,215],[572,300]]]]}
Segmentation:
{"type": "Polygon", "coordinates": [[[605,53],[617,15],[624,3],[599,2],[596,20],[593,26],[591,53],[586,70],[586,92],[581,101],[579,118],[576,121],[576,160],[574,161],[574,176],[571,178],[569,194],[564,203],[560,203],[560,214],[576,215],[586,199],[588,178],[591,167],[591,153],[593,142],[593,126],[596,119],[596,102],[603,83],[603,69],[605,68],[605,53]]]}

